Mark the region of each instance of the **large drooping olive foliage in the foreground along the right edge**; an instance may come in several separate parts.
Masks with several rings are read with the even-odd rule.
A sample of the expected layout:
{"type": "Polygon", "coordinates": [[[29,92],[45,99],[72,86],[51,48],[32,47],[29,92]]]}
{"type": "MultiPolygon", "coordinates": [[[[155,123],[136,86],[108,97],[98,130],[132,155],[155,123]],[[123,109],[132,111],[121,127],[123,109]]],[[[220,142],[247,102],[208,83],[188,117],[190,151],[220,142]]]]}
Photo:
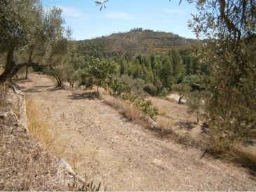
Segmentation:
{"type": "Polygon", "coordinates": [[[197,1],[200,14],[189,23],[198,37],[208,39],[197,53],[208,67],[206,117],[217,150],[250,138],[256,127],[255,7],[256,1],[197,1]]]}

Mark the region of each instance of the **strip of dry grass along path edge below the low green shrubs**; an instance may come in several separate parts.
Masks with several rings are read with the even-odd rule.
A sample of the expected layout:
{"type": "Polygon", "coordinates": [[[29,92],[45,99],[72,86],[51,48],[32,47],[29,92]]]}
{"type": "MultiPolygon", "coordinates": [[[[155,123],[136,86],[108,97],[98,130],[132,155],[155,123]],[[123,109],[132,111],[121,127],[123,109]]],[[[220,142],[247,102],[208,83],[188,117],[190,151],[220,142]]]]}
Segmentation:
{"type": "Polygon", "coordinates": [[[122,114],[129,121],[133,121],[135,123],[142,123],[142,124],[144,123],[142,122],[143,121],[142,113],[140,112],[140,110],[136,109],[135,107],[130,105],[128,102],[118,100],[115,97],[111,97],[111,96],[104,97],[103,102],[113,107],[117,111],[119,111],[119,113],[122,114]]]}

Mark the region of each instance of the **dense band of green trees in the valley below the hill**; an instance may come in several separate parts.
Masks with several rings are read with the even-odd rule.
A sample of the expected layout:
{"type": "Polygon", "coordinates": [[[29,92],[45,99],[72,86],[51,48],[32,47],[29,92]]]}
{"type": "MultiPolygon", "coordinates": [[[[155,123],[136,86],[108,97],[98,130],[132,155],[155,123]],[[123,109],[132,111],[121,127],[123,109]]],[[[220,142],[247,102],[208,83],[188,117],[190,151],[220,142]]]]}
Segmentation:
{"type": "Polygon", "coordinates": [[[149,55],[133,53],[107,53],[105,41],[96,39],[78,47],[77,57],[90,62],[90,57],[114,60],[118,76],[129,76],[142,81],[142,88],[152,95],[165,95],[173,84],[186,83],[192,90],[199,88],[201,76],[207,75],[207,67],[199,64],[189,48],[173,49],[168,54],[149,55]]]}

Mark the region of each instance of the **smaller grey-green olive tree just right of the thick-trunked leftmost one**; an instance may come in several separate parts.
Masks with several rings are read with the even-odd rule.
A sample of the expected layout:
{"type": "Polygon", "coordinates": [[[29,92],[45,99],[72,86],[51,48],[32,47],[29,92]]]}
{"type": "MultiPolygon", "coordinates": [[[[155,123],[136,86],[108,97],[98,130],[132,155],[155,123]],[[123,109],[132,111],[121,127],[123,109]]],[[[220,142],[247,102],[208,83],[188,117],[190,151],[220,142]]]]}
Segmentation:
{"type": "Polygon", "coordinates": [[[62,10],[50,8],[43,18],[43,41],[35,50],[34,61],[39,63],[45,71],[50,73],[61,86],[65,80],[68,64],[74,49],[71,40],[71,29],[63,27],[65,20],[61,16],[62,10]]]}

